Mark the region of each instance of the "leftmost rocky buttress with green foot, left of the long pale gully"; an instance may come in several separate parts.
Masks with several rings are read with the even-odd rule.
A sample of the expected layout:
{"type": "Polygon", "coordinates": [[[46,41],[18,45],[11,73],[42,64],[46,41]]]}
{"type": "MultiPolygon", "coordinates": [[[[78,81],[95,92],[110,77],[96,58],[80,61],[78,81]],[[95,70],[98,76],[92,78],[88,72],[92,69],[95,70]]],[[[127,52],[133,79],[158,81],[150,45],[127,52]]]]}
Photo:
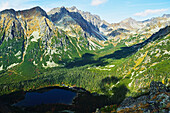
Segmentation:
{"type": "Polygon", "coordinates": [[[22,61],[25,38],[24,30],[16,18],[14,10],[2,11],[0,16],[0,65],[2,70],[13,67],[22,61]],[[16,54],[17,52],[18,54],[16,54]]]}

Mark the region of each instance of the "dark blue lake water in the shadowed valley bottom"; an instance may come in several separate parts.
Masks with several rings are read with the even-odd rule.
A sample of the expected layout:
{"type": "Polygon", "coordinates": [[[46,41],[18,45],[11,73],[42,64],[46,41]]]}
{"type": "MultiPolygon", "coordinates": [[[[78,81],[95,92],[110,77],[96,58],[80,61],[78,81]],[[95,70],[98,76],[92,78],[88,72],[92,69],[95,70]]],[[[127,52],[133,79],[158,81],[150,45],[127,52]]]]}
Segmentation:
{"type": "Polygon", "coordinates": [[[41,104],[71,104],[73,98],[76,96],[75,92],[65,89],[52,89],[47,92],[27,92],[25,99],[14,104],[15,106],[35,106],[41,104]]]}

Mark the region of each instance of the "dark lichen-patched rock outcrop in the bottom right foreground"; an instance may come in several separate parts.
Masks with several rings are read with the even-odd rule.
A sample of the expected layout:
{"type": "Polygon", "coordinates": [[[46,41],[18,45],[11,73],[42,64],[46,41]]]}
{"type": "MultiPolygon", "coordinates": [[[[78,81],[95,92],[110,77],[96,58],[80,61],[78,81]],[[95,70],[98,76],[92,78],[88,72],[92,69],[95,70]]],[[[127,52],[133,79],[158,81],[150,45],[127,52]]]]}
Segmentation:
{"type": "Polygon", "coordinates": [[[149,95],[128,97],[118,107],[118,113],[169,113],[170,92],[162,82],[152,81],[149,95]]]}

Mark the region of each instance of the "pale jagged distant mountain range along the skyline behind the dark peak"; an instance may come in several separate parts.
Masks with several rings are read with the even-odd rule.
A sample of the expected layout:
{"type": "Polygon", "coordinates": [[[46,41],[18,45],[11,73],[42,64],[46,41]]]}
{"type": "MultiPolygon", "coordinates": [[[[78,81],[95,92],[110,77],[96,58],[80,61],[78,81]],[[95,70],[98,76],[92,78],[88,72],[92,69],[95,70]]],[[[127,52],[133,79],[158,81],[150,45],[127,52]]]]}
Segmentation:
{"type": "MultiPolygon", "coordinates": [[[[68,12],[79,13],[87,22],[89,22],[91,25],[94,26],[93,29],[95,29],[102,35],[106,36],[107,38],[109,36],[111,36],[110,33],[112,31],[114,31],[118,28],[124,28],[127,30],[131,30],[131,34],[135,34],[135,33],[141,33],[141,34],[150,33],[150,34],[152,34],[154,32],[157,32],[160,28],[163,28],[163,27],[169,25],[169,23],[170,23],[169,14],[164,14],[162,17],[156,17],[156,18],[152,18],[149,20],[145,20],[145,21],[136,21],[133,18],[127,18],[119,23],[112,24],[112,23],[106,22],[105,20],[101,20],[101,18],[97,15],[92,15],[89,12],[84,12],[84,11],[78,10],[76,7],[54,8],[48,12],[48,15],[52,16],[55,13],[59,13],[59,12],[61,13],[61,9],[63,9],[63,8],[66,9],[68,12]],[[156,26],[157,24],[159,24],[159,26],[156,26]],[[149,28],[151,28],[151,27],[152,27],[152,30],[150,31],[149,28]],[[148,32],[146,32],[146,31],[148,31],[148,32]]],[[[76,18],[78,18],[78,16],[76,18]]],[[[79,22],[77,22],[77,23],[79,23],[79,22]]],[[[82,28],[85,28],[85,26],[82,26],[80,23],[79,23],[79,25],[82,28]]]]}

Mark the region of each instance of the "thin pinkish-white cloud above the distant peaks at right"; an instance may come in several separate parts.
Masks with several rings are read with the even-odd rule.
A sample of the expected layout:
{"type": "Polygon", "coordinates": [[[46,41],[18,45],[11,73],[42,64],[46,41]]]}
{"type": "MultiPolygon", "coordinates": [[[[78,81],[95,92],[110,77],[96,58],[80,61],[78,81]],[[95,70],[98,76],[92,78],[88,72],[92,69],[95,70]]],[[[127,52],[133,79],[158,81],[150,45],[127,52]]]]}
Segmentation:
{"type": "Polygon", "coordinates": [[[148,15],[151,15],[151,14],[160,14],[160,13],[165,12],[165,11],[168,11],[168,9],[155,9],[155,10],[147,9],[143,12],[135,13],[134,16],[145,17],[145,16],[148,16],[148,15]]]}

